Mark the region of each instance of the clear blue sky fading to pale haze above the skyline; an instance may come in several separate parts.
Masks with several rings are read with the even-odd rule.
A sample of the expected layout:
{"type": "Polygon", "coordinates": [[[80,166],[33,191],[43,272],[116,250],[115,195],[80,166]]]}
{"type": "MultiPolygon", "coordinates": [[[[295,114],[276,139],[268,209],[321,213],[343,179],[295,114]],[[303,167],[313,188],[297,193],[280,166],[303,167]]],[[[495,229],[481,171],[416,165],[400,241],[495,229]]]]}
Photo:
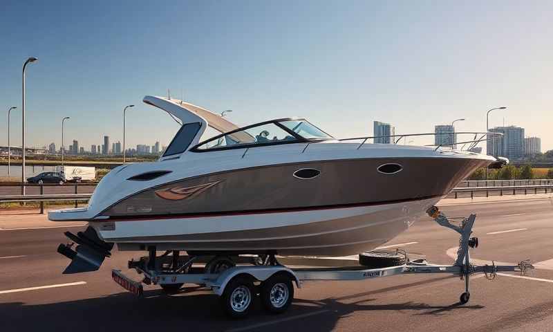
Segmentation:
{"type": "Polygon", "coordinates": [[[0,1],[0,145],[104,135],[167,145],[178,124],[142,103],[181,98],[247,125],[306,117],[337,138],[514,124],[553,149],[551,1],[0,1]],[[3,112],[2,112],[3,113],[3,112]]]}

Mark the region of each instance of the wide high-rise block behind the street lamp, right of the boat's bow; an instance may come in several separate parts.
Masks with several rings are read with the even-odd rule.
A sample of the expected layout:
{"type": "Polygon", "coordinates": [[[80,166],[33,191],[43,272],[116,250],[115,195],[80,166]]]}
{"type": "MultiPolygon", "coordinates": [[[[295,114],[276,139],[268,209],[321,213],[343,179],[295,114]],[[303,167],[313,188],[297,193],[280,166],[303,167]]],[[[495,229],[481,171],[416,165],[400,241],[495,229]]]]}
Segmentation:
{"type": "Polygon", "coordinates": [[[507,157],[509,159],[523,158],[525,150],[524,128],[509,126],[489,129],[491,133],[503,133],[503,136],[490,136],[487,140],[487,154],[507,157]]]}

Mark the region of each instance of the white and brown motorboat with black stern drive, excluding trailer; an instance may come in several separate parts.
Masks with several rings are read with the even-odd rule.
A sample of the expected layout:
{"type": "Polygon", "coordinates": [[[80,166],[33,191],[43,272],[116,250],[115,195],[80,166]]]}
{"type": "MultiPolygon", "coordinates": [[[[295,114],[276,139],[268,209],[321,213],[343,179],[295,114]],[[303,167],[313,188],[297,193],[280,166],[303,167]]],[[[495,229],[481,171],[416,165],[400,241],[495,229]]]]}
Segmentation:
{"type": "MultiPolygon", "coordinates": [[[[478,167],[500,163],[440,146],[338,140],[304,118],[238,127],[182,100],[143,101],[182,124],[162,156],[111,170],[86,208],[48,213],[88,221],[86,232],[66,233],[77,251],[58,251],[95,261],[95,269],[113,243],[188,255],[366,252],[407,230],[478,167]],[[205,139],[208,128],[219,134],[205,139]]],[[[86,270],[76,265],[66,272],[86,270]]]]}

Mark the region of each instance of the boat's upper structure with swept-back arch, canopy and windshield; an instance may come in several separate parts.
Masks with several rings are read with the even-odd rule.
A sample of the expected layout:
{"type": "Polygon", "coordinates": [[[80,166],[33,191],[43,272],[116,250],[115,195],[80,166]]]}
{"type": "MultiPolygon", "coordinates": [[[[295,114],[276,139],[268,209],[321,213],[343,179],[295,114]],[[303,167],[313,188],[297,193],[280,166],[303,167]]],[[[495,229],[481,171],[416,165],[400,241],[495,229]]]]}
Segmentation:
{"type": "Polygon", "coordinates": [[[178,158],[185,151],[203,152],[243,147],[335,140],[302,118],[284,118],[238,127],[222,116],[181,100],[147,95],[146,104],[158,107],[178,118],[182,127],[160,160],[178,158]],[[199,142],[207,127],[220,135],[199,142]]]}

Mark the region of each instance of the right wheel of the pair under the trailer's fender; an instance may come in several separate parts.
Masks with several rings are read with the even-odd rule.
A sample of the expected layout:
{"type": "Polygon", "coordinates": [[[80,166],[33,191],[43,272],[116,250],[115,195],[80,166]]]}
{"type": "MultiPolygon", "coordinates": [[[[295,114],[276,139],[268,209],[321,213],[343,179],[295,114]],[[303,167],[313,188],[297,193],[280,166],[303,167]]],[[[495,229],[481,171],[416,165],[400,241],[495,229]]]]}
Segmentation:
{"type": "Polygon", "coordinates": [[[294,284],[288,275],[279,273],[261,283],[261,301],[266,311],[283,313],[294,299],[294,284]]]}

